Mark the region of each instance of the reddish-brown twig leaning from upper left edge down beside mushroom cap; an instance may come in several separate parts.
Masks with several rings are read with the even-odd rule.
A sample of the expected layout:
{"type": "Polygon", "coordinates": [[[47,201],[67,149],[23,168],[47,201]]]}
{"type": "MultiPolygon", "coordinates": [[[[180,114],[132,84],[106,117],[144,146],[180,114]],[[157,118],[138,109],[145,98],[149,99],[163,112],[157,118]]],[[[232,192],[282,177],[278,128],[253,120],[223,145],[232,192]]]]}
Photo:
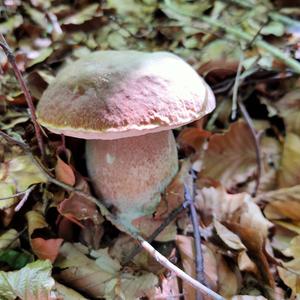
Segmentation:
{"type": "Polygon", "coordinates": [[[40,125],[37,122],[37,118],[36,118],[36,114],[35,114],[35,108],[34,108],[34,105],[33,105],[31,94],[30,94],[29,89],[28,89],[28,87],[25,83],[25,80],[24,80],[24,78],[21,74],[21,71],[18,68],[16,58],[13,55],[9,45],[7,44],[4,36],[1,33],[0,33],[0,39],[1,39],[0,47],[3,49],[4,53],[6,54],[7,59],[10,62],[11,66],[14,70],[15,76],[16,76],[16,78],[17,78],[17,80],[18,80],[18,82],[21,86],[22,92],[24,93],[24,96],[25,96],[25,99],[26,99],[26,102],[27,102],[27,105],[28,105],[28,108],[29,108],[29,111],[30,111],[30,118],[31,118],[31,121],[32,121],[33,126],[34,126],[35,135],[36,135],[36,139],[37,139],[37,142],[38,142],[38,145],[39,145],[39,149],[41,151],[42,157],[44,158],[45,157],[45,147],[44,147],[44,142],[43,142],[42,130],[40,128],[40,125]]]}

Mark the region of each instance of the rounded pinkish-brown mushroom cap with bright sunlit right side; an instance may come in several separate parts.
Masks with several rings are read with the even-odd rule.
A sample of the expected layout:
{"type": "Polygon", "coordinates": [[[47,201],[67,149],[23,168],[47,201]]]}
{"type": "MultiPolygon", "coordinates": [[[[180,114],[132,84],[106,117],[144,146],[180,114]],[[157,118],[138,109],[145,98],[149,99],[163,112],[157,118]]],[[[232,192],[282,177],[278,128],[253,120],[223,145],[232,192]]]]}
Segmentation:
{"type": "Polygon", "coordinates": [[[110,140],[176,128],[214,107],[205,81],[174,54],[98,51],[59,72],[37,115],[53,132],[110,140]]]}

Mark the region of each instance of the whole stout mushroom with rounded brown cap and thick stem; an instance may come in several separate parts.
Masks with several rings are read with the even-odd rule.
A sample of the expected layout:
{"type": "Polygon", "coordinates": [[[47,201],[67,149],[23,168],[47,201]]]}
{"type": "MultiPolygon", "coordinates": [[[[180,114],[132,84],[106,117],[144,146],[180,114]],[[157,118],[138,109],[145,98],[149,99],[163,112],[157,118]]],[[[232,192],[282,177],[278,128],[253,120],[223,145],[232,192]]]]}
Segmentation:
{"type": "Polygon", "coordinates": [[[87,140],[96,195],[131,221],[153,213],[178,171],[172,128],[214,107],[205,81],[174,54],[98,51],[63,68],[37,115],[50,131],[87,140]]]}

